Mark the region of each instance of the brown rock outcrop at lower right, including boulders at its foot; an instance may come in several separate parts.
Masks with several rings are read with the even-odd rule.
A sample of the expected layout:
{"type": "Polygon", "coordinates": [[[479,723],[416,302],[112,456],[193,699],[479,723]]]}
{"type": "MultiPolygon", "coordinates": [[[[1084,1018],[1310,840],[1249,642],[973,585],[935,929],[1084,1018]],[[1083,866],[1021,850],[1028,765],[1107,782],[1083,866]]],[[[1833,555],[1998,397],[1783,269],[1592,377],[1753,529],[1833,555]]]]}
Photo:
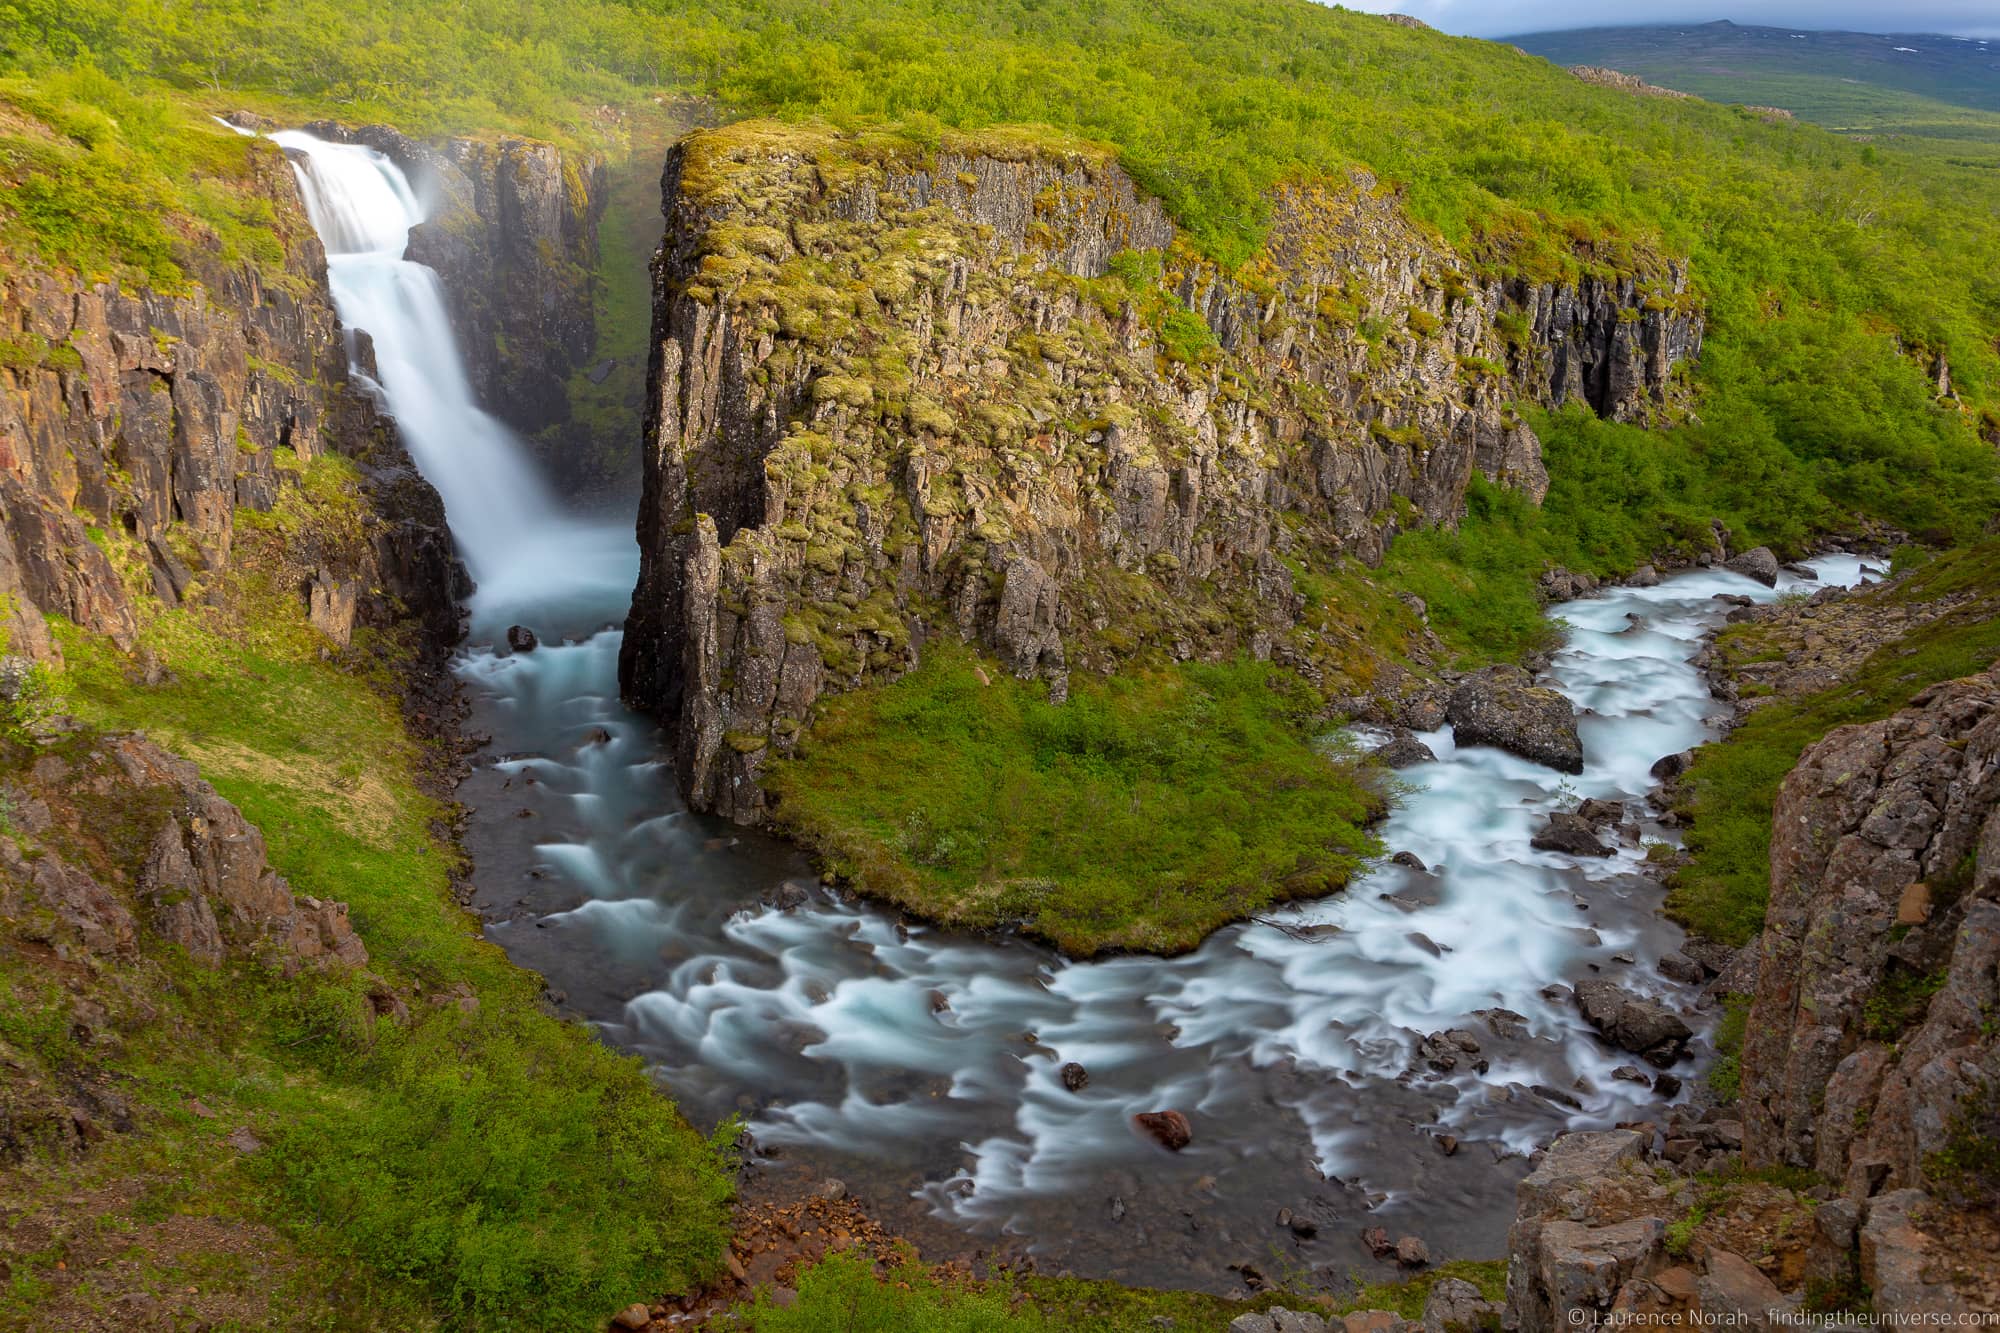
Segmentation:
{"type": "Polygon", "coordinates": [[[1740,1099],[1558,1139],[1510,1329],[2000,1301],[2000,671],[1812,745],[1770,875],[1740,1099]]]}

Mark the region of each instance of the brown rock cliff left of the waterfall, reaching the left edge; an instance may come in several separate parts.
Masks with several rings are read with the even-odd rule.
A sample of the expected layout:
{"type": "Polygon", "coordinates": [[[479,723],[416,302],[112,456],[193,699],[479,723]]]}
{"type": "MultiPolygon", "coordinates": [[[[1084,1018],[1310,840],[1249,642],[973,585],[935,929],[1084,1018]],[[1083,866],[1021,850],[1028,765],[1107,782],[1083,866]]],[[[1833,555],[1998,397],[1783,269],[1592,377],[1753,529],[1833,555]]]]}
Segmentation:
{"type": "Polygon", "coordinates": [[[282,266],[196,272],[184,294],[0,266],[0,608],[6,650],[48,656],[44,614],[134,644],[134,596],[200,594],[236,514],[270,510],[322,452],[358,460],[364,532],[294,550],[300,598],[344,640],[416,614],[450,636],[452,548],[436,492],[352,388],[326,258],[292,172],[258,150],[282,266]]]}

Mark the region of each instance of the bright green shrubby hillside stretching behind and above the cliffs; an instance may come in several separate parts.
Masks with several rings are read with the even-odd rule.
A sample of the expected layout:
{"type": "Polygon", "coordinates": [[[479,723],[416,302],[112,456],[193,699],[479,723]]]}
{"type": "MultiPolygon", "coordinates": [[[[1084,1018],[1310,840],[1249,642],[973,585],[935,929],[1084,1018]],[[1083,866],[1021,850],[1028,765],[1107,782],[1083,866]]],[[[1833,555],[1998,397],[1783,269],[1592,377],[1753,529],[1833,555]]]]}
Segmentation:
{"type": "MultiPolygon", "coordinates": [[[[92,60],[112,76],[70,80],[84,100],[158,80],[206,108],[568,138],[602,138],[598,108],[678,94],[726,116],[900,120],[918,134],[1050,124],[1116,146],[1226,262],[1256,252],[1272,182],[1356,162],[1496,272],[1558,274],[1632,246],[1692,256],[1710,308],[1700,424],[1544,422],[1558,436],[1548,512],[1476,520],[1470,548],[1410,542],[1404,562],[1430,568],[1464,638],[1474,626],[1454,622],[1442,584],[1466,578],[1440,582],[1440,562],[1522,586],[1546,560],[1630,566],[1708,516],[1778,544],[1852,514],[1956,540],[1996,506],[1980,438],[2000,436],[1988,172],[1588,86],[1502,44],[1308,0],[14,0],[10,14],[6,64],[46,80],[92,60]]],[[[102,126],[64,134],[84,162],[134,150],[102,126]]],[[[6,162],[16,182],[44,170],[14,150],[6,162]]],[[[0,186],[0,208],[18,214],[24,188],[0,186]]],[[[1526,606],[1508,612],[1514,628],[1526,606]]]]}

